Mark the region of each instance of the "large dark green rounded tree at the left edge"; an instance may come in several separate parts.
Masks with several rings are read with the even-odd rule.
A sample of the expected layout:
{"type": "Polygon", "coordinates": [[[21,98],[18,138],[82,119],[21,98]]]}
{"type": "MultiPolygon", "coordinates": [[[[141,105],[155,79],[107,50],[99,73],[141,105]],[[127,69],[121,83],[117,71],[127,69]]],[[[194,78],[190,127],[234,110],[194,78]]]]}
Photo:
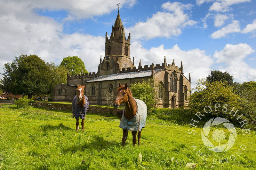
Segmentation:
{"type": "Polygon", "coordinates": [[[29,99],[36,93],[49,94],[47,71],[44,60],[37,55],[15,56],[11,63],[4,64],[1,89],[14,95],[28,95],[29,99]]]}

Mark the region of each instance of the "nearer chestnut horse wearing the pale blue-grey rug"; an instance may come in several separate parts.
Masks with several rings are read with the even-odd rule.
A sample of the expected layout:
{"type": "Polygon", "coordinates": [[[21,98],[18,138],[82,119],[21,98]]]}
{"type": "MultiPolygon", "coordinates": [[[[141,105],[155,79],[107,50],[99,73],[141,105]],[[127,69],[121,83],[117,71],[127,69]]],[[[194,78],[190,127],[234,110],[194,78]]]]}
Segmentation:
{"type": "Polygon", "coordinates": [[[140,145],[141,130],[145,127],[147,118],[146,104],[132,97],[132,92],[128,89],[128,84],[121,85],[116,91],[116,100],[114,108],[117,109],[121,104],[125,103],[124,110],[116,112],[116,116],[121,120],[119,127],[123,129],[122,145],[124,147],[127,139],[128,131],[132,131],[132,143],[136,145],[136,135],[138,132],[138,145],[140,145]]]}

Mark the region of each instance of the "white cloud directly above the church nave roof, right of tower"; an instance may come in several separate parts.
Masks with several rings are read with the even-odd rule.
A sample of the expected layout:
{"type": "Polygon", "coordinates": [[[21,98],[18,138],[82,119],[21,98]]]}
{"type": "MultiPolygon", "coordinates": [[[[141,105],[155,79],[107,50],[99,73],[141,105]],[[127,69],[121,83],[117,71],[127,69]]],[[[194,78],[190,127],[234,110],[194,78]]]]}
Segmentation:
{"type": "Polygon", "coordinates": [[[181,61],[183,62],[183,72],[186,78],[188,79],[189,73],[191,74],[191,88],[195,88],[197,80],[206,77],[210,73],[210,67],[213,64],[212,57],[200,49],[183,51],[178,45],[169,49],[164,48],[164,45],[145,49],[139,42],[132,42],[131,58],[134,57],[135,66],[137,67],[140,59],[142,67],[144,65],[148,65],[149,67],[152,63],[155,66],[160,63],[160,66],[162,66],[164,56],[166,56],[167,64],[172,64],[172,60],[174,59],[176,66],[180,67],[181,61]]]}

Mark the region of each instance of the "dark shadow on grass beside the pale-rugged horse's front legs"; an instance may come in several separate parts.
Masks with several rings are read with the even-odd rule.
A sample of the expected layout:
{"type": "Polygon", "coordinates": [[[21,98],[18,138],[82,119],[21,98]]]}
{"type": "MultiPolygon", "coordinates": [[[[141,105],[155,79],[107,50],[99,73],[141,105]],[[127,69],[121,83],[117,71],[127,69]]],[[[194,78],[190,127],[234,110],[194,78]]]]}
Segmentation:
{"type": "Polygon", "coordinates": [[[115,141],[108,141],[102,138],[101,136],[94,135],[93,142],[87,143],[84,140],[84,142],[82,142],[81,144],[73,144],[67,149],[63,149],[62,153],[67,153],[67,152],[75,153],[76,151],[84,152],[84,150],[86,149],[101,151],[105,148],[114,147],[114,146],[120,147],[121,143],[115,142],[115,141]]]}

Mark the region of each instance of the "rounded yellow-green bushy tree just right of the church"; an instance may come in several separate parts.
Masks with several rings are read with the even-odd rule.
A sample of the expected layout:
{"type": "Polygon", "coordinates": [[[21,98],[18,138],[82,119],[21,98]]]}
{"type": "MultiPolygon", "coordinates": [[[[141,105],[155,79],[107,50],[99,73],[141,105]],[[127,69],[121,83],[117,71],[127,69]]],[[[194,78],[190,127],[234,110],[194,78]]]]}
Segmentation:
{"type": "MultiPolygon", "coordinates": [[[[227,81],[213,81],[212,83],[206,80],[197,81],[196,90],[193,95],[189,96],[188,106],[190,109],[196,112],[201,112],[204,115],[210,115],[210,117],[223,117],[231,119],[233,114],[229,114],[233,107],[238,110],[242,110],[240,96],[236,95],[231,86],[227,85],[227,81]],[[227,112],[223,112],[222,109],[215,111],[215,103],[219,103],[220,107],[224,104],[228,104],[227,112]],[[212,108],[211,113],[204,113],[204,107],[210,106],[212,108]]],[[[206,111],[210,109],[207,107],[206,111]]]]}

